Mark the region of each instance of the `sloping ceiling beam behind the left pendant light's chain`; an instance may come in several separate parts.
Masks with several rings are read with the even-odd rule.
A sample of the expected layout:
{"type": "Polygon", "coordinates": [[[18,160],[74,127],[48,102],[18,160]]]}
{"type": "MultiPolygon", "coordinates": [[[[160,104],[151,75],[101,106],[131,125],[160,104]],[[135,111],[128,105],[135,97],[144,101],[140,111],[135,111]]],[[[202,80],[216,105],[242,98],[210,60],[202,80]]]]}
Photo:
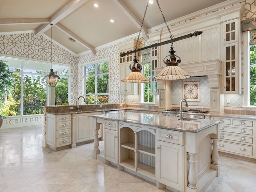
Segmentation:
{"type": "MultiPolygon", "coordinates": [[[[142,21],[140,21],[137,16],[126,6],[122,0],[113,0],[113,2],[124,12],[124,14],[134,23],[134,25],[140,29],[142,21]]],[[[148,39],[148,29],[142,26],[142,36],[145,40],[148,39]]]]}

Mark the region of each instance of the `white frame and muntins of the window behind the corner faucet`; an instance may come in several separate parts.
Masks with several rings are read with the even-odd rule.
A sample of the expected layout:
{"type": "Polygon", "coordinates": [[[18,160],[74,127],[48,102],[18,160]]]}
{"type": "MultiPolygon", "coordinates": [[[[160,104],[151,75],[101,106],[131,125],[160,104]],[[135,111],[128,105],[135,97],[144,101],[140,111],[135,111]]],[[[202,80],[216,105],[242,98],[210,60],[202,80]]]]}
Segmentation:
{"type": "Polygon", "coordinates": [[[98,95],[107,95],[108,96],[108,104],[110,103],[110,58],[103,58],[100,60],[95,60],[92,62],[84,63],[82,64],[82,95],[86,99],[86,96],[88,95],[95,95],[95,104],[97,104],[97,96],[98,95]],[[108,62],[108,73],[101,73],[102,75],[108,74],[108,93],[98,93],[98,78],[95,78],[95,93],[94,94],[86,94],[86,77],[92,77],[98,76],[97,70],[96,70],[96,64],[101,63],[101,62],[108,62]],[[95,66],[95,74],[93,75],[87,75],[85,74],[85,66],[92,65],[94,64],[95,66]]]}

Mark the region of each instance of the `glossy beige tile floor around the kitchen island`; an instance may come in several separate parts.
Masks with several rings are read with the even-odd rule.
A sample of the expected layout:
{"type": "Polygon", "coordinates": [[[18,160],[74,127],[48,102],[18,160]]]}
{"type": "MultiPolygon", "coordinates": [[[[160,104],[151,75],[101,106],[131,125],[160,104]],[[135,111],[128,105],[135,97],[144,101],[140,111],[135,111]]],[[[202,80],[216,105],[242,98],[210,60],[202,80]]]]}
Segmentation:
{"type": "MultiPolygon", "coordinates": [[[[42,126],[0,129],[1,192],[168,191],[92,159],[92,143],[58,152],[42,148],[42,133],[42,126]]],[[[220,166],[207,192],[256,191],[256,163],[220,156],[220,166]]]]}

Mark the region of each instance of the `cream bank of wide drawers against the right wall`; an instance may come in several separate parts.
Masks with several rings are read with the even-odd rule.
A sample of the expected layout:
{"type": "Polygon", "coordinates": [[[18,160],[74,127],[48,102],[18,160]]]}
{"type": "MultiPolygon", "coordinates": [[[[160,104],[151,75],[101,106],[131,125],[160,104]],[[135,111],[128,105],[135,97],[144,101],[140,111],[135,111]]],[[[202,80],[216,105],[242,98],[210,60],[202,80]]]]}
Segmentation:
{"type": "Polygon", "coordinates": [[[221,120],[218,150],[239,156],[256,158],[256,120],[243,118],[213,117],[221,120]]]}

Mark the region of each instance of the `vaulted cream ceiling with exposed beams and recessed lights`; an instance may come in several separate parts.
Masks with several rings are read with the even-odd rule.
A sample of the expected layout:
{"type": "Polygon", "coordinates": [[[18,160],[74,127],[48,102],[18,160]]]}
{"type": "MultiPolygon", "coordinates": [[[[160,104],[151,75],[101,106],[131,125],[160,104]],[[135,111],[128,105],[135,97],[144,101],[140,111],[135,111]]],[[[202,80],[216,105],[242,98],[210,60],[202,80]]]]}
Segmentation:
{"type": "MultiPolygon", "coordinates": [[[[227,0],[158,0],[166,21],[227,0]]],[[[51,36],[74,54],[140,30],[148,0],[0,0],[0,34],[34,32],[51,36]],[[98,4],[98,8],[94,7],[98,4]],[[114,20],[114,23],[110,22],[114,20]],[[71,42],[68,38],[76,42],[71,42]]],[[[142,34],[164,23],[156,0],[148,4],[142,34]]]]}

